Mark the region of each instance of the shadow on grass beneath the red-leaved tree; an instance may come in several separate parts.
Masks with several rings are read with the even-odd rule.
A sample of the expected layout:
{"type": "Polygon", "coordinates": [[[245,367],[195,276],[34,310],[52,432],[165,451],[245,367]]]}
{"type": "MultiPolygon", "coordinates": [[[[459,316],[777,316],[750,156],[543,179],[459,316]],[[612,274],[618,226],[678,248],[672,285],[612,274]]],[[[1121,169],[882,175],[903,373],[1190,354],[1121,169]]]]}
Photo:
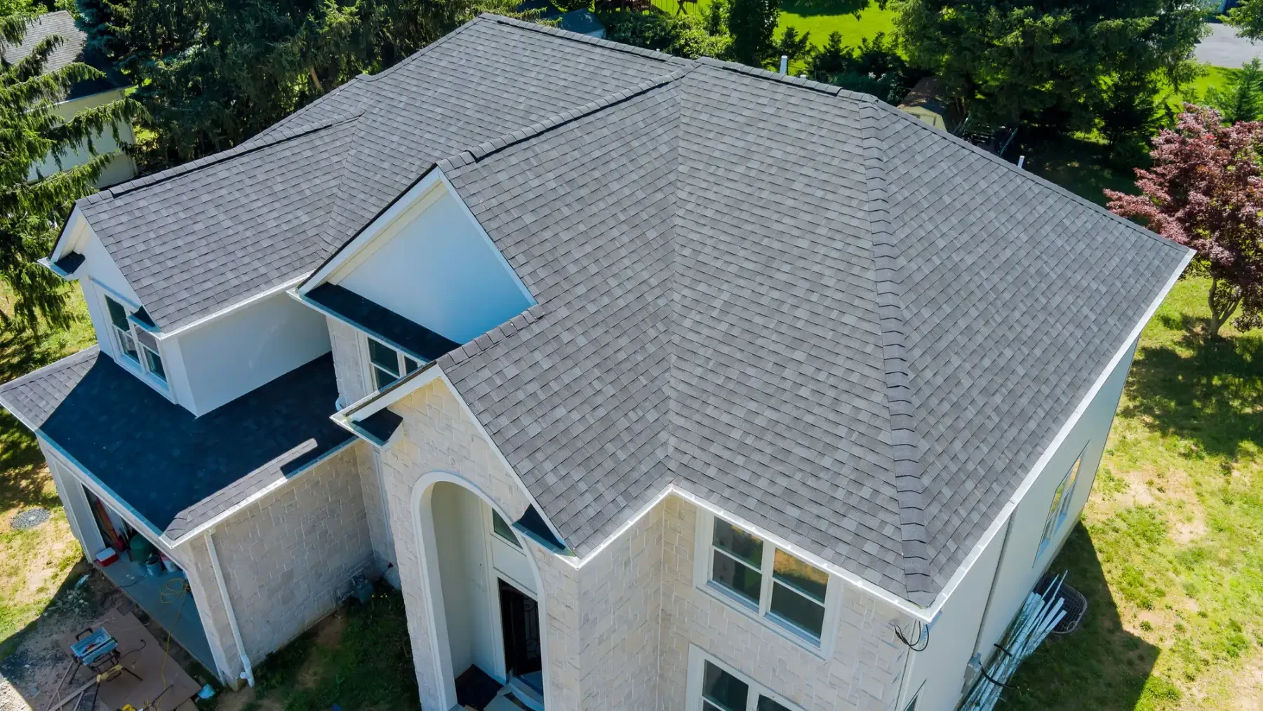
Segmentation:
{"type": "Polygon", "coordinates": [[[1158,321],[1185,332],[1180,350],[1139,350],[1122,414],[1209,455],[1235,458],[1244,442],[1263,443],[1263,338],[1205,338],[1205,320],[1188,314],[1158,321]]]}

